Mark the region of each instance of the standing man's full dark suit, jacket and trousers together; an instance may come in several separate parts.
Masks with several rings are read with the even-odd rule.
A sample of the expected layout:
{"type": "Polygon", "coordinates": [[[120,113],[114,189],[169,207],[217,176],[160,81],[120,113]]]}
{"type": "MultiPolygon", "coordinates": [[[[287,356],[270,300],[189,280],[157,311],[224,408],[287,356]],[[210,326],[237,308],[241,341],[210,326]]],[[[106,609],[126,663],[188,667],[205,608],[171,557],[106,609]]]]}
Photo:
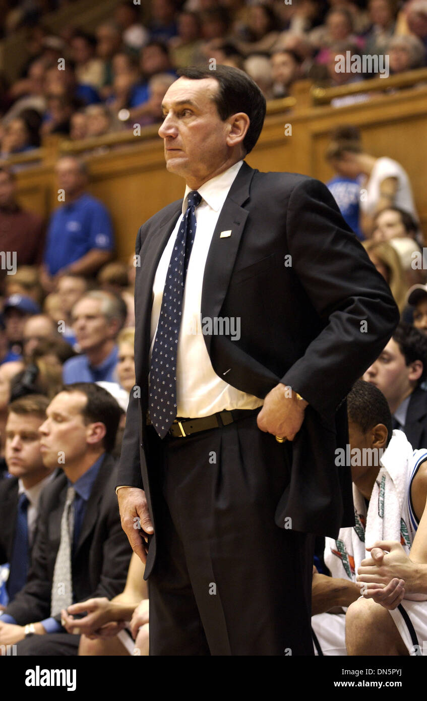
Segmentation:
{"type": "Polygon", "coordinates": [[[117,481],[145,490],[154,523],[150,654],[309,655],[308,534],[336,537],[353,524],[350,469],[335,465],[348,442],[345,397],[386,345],[398,308],[325,185],[243,163],[201,300],[201,318],[240,318],[240,339],[205,335],[205,344],[231,386],[265,397],[282,382],[309,407],[292,444],[260,431],[256,413],[161,441],[146,421],[152,285],[181,207],[137,234],[140,397],[130,393],[117,481]]]}

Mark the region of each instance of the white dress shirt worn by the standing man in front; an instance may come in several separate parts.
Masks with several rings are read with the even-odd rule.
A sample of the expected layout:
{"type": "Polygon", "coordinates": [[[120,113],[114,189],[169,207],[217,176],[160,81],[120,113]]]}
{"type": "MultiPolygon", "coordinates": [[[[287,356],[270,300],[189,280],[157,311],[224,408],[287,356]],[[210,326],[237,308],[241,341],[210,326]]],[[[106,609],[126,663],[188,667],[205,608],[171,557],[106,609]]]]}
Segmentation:
{"type": "MultiPolygon", "coordinates": [[[[210,362],[201,326],[201,297],[206,258],[219,214],[243,161],[205,182],[199,189],[202,200],[196,207],[196,238],[191,250],[184,287],[182,321],[177,351],[177,416],[200,418],[224,409],[256,409],[264,400],[241,392],[219,377],[210,362]]],[[[158,264],[153,284],[151,348],[154,345],[166,273],[179,225],[187,210],[187,185],[179,217],[158,264]]],[[[231,236],[233,232],[231,231],[231,236]]],[[[240,323],[240,320],[235,323],[240,323]]],[[[231,327],[233,329],[233,327],[231,327]]],[[[236,329],[236,326],[234,327],[236,329]]]]}

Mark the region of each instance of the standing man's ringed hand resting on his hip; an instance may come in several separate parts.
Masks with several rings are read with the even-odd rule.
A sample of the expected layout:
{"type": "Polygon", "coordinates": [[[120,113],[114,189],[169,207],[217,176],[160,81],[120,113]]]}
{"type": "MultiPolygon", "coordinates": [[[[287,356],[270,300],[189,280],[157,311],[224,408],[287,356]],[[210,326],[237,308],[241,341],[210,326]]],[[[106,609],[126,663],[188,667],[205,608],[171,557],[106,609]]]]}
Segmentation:
{"type": "Polygon", "coordinates": [[[258,428],[264,433],[294,440],[304,421],[304,409],[308,403],[298,399],[289,387],[279,382],[264,399],[257,416],[258,428]]]}

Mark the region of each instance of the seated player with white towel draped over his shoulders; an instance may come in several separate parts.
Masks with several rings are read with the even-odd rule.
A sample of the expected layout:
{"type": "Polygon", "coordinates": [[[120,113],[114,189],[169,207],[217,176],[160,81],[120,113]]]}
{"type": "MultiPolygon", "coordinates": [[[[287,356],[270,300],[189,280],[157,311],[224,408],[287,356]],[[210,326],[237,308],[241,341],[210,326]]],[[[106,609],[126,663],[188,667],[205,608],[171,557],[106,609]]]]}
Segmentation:
{"type": "MultiPolygon", "coordinates": [[[[355,526],[340,529],[336,540],[326,538],[325,563],[332,578],[313,573],[313,612],[317,614],[311,619],[313,642],[319,655],[346,655],[346,650],[350,655],[406,655],[403,629],[409,637],[405,620],[411,609],[409,616],[405,611],[414,603],[407,599],[427,594],[427,587],[413,581],[408,589],[402,568],[389,571],[386,579],[362,577],[375,583],[372,590],[361,588],[356,575],[367,562],[366,550],[376,541],[394,540],[400,560],[418,552],[423,559],[414,562],[427,565],[419,537],[427,516],[427,449],[413,451],[402,431],[392,432],[385,397],[372,383],[358,380],[347,397],[347,407],[355,526]],[[360,599],[360,593],[374,597],[373,601],[360,599]],[[346,615],[337,606],[349,606],[346,615]],[[395,609],[392,617],[386,609],[395,609]],[[370,616],[381,623],[381,631],[371,627],[370,616]]],[[[416,611],[413,627],[425,636],[427,602],[423,616],[416,611]]]]}

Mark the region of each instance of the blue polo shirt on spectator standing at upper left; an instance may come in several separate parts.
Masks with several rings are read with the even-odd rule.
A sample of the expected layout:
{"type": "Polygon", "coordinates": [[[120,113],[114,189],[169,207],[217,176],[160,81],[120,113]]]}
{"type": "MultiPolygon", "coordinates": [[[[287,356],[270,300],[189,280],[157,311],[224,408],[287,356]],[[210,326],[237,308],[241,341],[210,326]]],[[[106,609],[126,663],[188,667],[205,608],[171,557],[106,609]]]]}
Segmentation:
{"type": "Polygon", "coordinates": [[[93,248],[113,250],[113,228],[107,207],[84,193],[50,217],[44,262],[50,275],[55,275],[93,248]]]}

